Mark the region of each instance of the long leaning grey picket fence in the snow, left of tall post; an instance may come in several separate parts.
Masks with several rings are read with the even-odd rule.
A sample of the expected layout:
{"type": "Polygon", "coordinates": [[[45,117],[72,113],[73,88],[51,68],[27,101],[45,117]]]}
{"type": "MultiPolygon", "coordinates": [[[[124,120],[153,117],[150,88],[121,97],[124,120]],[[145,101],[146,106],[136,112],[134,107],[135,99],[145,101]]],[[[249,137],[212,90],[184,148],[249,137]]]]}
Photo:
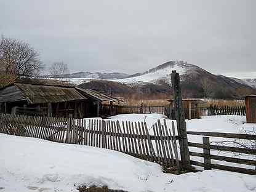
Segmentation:
{"type": "Polygon", "coordinates": [[[158,120],[150,135],[145,122],[0,115],[4,134],[107,148],[180,169],[174,122],[169,129],[158,120]]]}

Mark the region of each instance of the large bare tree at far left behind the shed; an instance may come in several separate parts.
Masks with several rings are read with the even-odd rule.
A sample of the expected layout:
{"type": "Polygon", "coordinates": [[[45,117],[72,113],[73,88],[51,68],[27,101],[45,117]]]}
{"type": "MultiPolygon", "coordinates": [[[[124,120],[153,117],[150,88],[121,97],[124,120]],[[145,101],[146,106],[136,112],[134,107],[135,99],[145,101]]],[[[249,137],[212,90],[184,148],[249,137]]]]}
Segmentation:
{"type": "Polygon", "coordinates": [[[17,78],[36,77],[43,69],[39,53],[30,44],[4,36],[0,40],[0,66],[6,84],[17,78]]]}

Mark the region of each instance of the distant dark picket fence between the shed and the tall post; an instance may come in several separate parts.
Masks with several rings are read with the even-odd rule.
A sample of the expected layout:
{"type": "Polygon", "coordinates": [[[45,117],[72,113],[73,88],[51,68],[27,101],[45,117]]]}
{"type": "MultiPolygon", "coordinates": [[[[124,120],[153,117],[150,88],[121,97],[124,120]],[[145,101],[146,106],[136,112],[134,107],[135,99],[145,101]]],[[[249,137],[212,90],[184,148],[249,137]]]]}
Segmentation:
{"type": "Polygon", "coordinates": [[[100,104],[100,115],[110,116],[115,114],[129,114],[129,113],[169,113],[169,105],[143,105],[143,106],[129,106],[129,105],[109,105],[100,104]]]}

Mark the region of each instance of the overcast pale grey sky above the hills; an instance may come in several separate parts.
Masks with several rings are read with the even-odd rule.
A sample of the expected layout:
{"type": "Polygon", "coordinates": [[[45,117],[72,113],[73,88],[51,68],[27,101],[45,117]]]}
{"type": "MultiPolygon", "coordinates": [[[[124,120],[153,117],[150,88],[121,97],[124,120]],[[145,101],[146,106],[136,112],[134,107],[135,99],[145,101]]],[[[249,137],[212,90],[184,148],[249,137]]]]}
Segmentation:
{"type": "Polygon", "coordinates": [[[255,0],[0,0],[0,34],[71,72],[132,74],[183,60],[217,74],[251,73],[255,8],[255,0]]]}

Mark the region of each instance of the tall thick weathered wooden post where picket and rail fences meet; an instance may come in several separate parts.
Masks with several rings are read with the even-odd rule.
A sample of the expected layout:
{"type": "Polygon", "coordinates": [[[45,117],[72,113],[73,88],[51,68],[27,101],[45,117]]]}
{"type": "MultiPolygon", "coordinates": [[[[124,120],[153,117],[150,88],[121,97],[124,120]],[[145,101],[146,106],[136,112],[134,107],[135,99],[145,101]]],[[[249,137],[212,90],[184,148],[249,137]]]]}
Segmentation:
{"type": "Polygon", "coordinates": [[[180,75],[172,71],[172,92],[174,96],[174,111],[177,121],[178,142],[180,144],[180,157],[184,169],[190,169],[190,153],[188,151],[188,137],[186,134],[186,121],[182,107],[182,91],[180,89],[180,75]]]}

